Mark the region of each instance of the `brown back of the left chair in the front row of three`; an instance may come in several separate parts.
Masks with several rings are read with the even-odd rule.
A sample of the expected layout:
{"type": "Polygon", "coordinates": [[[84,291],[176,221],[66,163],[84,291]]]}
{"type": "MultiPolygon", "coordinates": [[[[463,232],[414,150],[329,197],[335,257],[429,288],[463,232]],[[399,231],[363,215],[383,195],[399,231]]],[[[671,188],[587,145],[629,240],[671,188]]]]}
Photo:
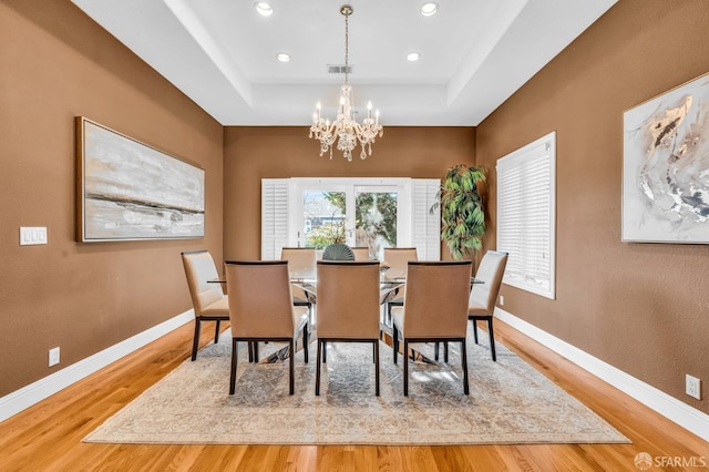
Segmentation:
{"type": "Polygon", "coordinates": [[[233,337],[292,337],[287,260],[227,260],[226,286],[233,337]]]}

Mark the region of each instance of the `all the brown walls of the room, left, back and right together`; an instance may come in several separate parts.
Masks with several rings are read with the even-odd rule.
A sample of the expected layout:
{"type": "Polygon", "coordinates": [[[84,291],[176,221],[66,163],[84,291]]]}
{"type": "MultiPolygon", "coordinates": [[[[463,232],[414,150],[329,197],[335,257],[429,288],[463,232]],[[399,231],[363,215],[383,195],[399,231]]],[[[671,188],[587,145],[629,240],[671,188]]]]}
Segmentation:
{"type": "Polygon", "coordinates": [[[188,309],[179,252],[257,258],[263,177],[441,177],[477,156],[494,217],[495,160],[556,130],[557,298],[503,286],[505,309],[707,411],[684,374],[709,381],[709,246],[620,242],[623,111],[707,72],[707,24],[705,0],[620,0],[476,132],[387,127],[347,163],[305,127],[223,129],[69,0],[0,1],[0,397],[188,309]],[[203,166],[207,236],[75,243],[76,115],[203,166]],[[20,226],[49,244],[20,247],[20,226]]]}

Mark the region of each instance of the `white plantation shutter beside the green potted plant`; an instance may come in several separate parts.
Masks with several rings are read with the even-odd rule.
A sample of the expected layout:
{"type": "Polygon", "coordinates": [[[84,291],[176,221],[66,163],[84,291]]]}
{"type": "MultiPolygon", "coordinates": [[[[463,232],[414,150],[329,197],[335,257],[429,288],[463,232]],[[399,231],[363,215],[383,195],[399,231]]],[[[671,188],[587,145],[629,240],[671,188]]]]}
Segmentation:
{"type": "Polygon", "coordinates": [[[435,203],[435,194],[441,188],[441,181],[435,178],[413,178],[412,188],[412,246],[417,248],[419,260],[441,259],[441,208],[433,214],[431,206],[435,203]]]}

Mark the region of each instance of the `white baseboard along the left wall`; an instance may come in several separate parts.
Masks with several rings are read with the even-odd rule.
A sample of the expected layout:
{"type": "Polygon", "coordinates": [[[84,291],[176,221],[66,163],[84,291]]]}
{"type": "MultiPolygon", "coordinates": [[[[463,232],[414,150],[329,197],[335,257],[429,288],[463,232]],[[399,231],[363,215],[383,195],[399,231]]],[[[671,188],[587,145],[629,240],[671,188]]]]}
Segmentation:
{"type": "Polygon", "coordinates": [[[7,420],[20,411],[30,408],[58,391],[71,386],[72,383],[75,383],[93,372],[103,369],[110,363],[130,355],[148,342],[152,342],[155,339],[165,336],[169,331],[179,328],[184,324],[194,320],[194,311],[189,309],[184,314],[177,315],[176,317],[171,318],[167,321],[163,321],[143,332],[138,332],[117,345],[111,346],[101,352],[96,352],[93,356],[52,373],[51,376],[47,376],[37,382],[30,383],[20,390],[16,390],[12,393],[0,398],[0,421],[7,420]]]}

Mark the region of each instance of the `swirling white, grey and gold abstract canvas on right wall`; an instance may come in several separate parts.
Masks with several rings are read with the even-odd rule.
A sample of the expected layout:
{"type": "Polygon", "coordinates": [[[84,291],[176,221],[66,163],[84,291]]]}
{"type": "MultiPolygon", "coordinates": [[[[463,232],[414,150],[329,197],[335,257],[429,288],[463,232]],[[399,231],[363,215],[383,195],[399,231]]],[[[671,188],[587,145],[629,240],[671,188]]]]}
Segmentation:
{"type": "Polygon", "coordinates": [[[623,240],[709,243],[709,74],[623,122],[623,240]]]}

